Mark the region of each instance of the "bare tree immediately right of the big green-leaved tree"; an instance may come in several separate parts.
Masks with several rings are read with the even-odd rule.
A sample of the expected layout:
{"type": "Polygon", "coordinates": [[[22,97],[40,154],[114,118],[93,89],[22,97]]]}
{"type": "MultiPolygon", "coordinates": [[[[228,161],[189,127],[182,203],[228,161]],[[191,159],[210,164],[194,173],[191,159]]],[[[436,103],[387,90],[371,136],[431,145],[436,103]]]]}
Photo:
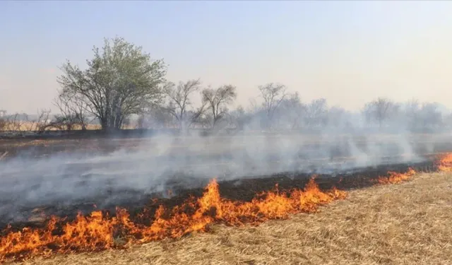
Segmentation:
{"type": "Polygon", "coordinates": [[[192,79],[185,83],[181,81],[177,86],[172,82],[168,82],[163,88],[163,93],[168,99],[165,110],[177,119],[182,131],[185,131],[191,124],[196,122],[205,110],[206,102],[203,102],[201,107],[194,109],[190,98],[191,94],[198,91],[200,86],[201,81],[199,79],[192,79]]]}

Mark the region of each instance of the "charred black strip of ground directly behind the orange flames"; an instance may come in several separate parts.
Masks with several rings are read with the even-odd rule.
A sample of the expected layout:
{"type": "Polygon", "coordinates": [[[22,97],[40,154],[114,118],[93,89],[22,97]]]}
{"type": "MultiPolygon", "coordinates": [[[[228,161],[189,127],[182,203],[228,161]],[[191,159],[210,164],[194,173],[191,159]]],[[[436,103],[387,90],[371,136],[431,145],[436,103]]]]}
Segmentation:
{"type": "MultiPolygon", "coordinates": [[[[409,167],[417,171],[432,172],[436,170],[436,157],[425,157],[421,163],[398,163],[392,165],[379,165],[377,167],[357,168],[353,172],[344,172],[342,174],[323,174],[317,175],[316,183],[323,190],[336,187],[338,189],[350,190],[369,187],[374,184],[373,180],[379,176],[386,176],[388,171],[406,172],[409,167]]],[[[267,192],[275,188],[278,184],[280,190],[284,189],[303,189],[309,179],[311,173],[303,172],[282,172],[275,175],[258,176],[246,179],[233,179],[220,181],[220,194],[223,198],[251,201],[256,194],[267,192]]],[[[186,179],[185,179],[186,180],[186,179]]],[[[43,205],[41,207],[27,208],[24,206],[18,211],[23,221],[11,222],[5,218],[0,219],[0,227],[5,228],[11,223],[14,230],[23,227],[40,227],[44,225],[42,216],[59,216],[73,220],[78,212],[89,214],[92,211],[102,210],[108,212],[110,216],[114,215],[116,207],[126,208],[131,213],[132,220],[143,223],[143,220],[137,220],[136,216],[141,213],[144,208],[148,212],[148,216],[153,216],[158,206],[163,205],[166,208],[172,208],[182,204],[190,196],[202,196],[204,187],[208,184],[208,179],[190,180],[191,183],[197,181],[197,187],[186,189],[185,186],[178,183],[177,179],[169,180],[167,187],[172,187],[172,194],[176,196],[168,197],[168,194],[162,192],[153,194],[142,194],[133,190],[116,191],[116,194],[99,194],[95,198],[88,198],[83,201],[72,201],[70,204],[52,204],[43,205]],[[116,199],[112,203],[108,202],[108,198],[114,196],[116,199]],[[118,199],[119,198],[119,199],[118,199]],[[157,199],[157,200],[153,200],[157,199]],[[101,206],[101,207],[99,207],[101,206]]],[[[144,223],[150,223],[152,220],[144,220],[144,223]]]]}

